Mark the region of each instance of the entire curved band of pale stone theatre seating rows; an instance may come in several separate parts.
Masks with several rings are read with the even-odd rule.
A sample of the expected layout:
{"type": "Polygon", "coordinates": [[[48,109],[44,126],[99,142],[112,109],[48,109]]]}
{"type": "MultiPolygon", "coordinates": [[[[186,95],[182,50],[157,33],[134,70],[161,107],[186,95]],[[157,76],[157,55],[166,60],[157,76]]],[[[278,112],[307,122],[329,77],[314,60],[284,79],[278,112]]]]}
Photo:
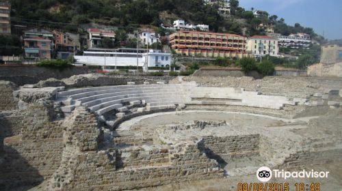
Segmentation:
{"type": "Polygon", "coordinates": [[[194,83],[119,85],[70,89],[57,93],[62,111],[71,113],[77,106],[86,106],[101,116],[109,111],[124,113],[127,105],[143,106],[143,111],[174,109],[183,105],[231,105],[282,109],[285,105],[304,104],[306,99],[261,95],[234,87],[198,87],[194,83]]]}

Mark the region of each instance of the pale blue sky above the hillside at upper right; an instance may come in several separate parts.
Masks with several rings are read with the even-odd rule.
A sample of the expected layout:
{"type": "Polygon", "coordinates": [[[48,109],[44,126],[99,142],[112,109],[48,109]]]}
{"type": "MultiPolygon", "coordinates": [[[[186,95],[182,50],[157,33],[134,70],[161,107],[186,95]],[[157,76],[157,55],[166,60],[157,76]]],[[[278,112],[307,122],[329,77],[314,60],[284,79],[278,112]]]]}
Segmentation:
{"type": "Polygon", "coordinates": [[[329,40],[342,39],[342,0],[239,0],[246,10],[265,10],[289,25],[311,27],[329,40]]]}

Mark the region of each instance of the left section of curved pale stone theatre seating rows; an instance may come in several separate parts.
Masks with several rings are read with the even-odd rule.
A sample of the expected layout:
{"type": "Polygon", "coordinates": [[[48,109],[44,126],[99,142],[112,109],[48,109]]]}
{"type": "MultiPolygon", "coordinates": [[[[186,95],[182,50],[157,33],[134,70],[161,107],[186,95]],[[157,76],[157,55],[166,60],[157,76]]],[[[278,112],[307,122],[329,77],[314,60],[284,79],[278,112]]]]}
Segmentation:
{"type": "Polygon", "coordinates": [[[62,111],[71,113],[77,106],[86,106],[96,115],[109,111],[127,111],[124,105],[146,105],[147,111],[176,108],[176,105],[191,101],[185,92],[193,84],[182,85],[120,85],[71,89],[57,93],[57,101],[62,102],[62,111]]]}

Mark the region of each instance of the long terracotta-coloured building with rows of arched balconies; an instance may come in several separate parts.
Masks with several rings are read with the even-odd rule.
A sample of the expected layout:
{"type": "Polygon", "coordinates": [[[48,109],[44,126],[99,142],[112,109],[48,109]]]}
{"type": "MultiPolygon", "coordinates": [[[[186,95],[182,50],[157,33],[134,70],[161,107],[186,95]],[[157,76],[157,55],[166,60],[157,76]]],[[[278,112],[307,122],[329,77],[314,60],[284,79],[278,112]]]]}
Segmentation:
{"type": "Polygon", "coordinates": [[[202,57],[244,57],[246,40],[241,35],[200,31],[177,31],[170,35],[171,48],[176,53],[202,57]]]}

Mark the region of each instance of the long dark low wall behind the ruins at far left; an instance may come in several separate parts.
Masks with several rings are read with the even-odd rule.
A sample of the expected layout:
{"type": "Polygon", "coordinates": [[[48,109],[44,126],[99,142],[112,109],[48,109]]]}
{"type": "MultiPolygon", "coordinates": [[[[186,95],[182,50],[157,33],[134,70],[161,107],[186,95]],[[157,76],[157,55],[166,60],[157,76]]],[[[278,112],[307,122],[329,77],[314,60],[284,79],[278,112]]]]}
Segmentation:
{"type": "Polygon", "coordinates": [[[69,78],[79,74],[88,74],[87,67],[74,67],[63,71],[34,65],[0,65],[0,80],[8,80],[16,85],[35,84],[48,78],[69,78]]]}

